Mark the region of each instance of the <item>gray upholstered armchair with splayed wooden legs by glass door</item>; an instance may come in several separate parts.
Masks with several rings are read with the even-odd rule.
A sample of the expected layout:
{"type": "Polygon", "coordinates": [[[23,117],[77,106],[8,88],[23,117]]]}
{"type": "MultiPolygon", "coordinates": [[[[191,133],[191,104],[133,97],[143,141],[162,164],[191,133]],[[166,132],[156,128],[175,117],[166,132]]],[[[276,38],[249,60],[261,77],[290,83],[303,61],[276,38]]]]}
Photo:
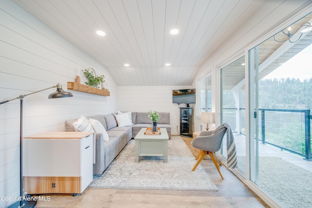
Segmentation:
{"type": "Polygon", "coordinates": [[[219,165],[221,163],[216,160],[215,152],[219,151],[222,145],[222,139],[226,132],[227,128],[223,125],[219,126],[215,129],[215,131],[204,131],[200,132],[199,136],[195,137],[192,141],[192,146],[201,150],[198,156],[195,158],[196,163],[192,169],[194,171],[201,160],[206,156],[206,154],[209,154],[211,159],[213,160],[215,164],[215,168],[218,170],[221,178],[223,179],[223,176],[220,172],[219,165]]]}

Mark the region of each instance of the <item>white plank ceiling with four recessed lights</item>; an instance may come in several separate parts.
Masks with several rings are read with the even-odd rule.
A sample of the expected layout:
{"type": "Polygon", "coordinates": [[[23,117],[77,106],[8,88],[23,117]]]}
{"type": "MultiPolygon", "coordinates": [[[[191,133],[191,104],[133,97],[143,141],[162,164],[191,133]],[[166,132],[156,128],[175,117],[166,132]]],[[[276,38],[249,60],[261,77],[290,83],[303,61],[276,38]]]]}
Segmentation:
{"type": "Polygon", "coordinates": [[[192,85],[207,56],[263,4],[257,0],[14,2],[94,57],[117,86],[192,85]],[[179,33],[171,35],[173,28],[179,33]],[[98,36],[97,30],[106,35],[98,36]]]}

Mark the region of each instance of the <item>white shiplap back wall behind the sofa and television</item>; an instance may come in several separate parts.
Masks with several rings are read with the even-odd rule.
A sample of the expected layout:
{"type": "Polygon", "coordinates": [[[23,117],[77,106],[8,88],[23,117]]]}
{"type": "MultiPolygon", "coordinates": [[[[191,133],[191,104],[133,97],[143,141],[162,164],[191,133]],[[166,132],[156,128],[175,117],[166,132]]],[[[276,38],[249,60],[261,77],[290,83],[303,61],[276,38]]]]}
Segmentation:
{"type": "MultiPolygon", "coordinates": [[[[180,132],[180,109],[178,104],[172,103],[172,90],[194,88],[191,86],[118,86],[117,110],[132,112],[170,113],[171,133],[180,132]]],[[[181,104],[180,107],[185,107],[181,104]]],[[[195,104],[190,104],[195,107],[195,104]]]]}

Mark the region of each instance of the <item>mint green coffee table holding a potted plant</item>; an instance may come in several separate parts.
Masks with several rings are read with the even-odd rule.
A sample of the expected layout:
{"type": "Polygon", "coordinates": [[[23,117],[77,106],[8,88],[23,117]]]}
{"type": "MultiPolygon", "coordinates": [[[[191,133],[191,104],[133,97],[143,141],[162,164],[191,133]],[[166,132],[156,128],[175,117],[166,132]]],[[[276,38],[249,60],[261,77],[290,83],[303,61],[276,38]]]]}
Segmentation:
{"type": "Polygon", "coordinates": [[[168,162],[169,136],[165,128],[160,128],[160,134],[146,135],[142,128],[136,135],[136,162],[140,156],[162,156],[168,162]]]}

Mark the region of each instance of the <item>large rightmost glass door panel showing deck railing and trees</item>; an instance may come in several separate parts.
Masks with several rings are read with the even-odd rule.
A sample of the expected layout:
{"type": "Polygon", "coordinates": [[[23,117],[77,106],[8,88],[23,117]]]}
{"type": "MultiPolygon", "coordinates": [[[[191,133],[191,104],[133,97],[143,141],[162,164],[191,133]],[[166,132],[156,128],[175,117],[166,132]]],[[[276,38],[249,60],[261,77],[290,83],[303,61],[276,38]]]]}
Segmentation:
{"type": "Polygon", "coordinates": [[[300,34],[248,53],[249,180],[286,208],[312,206],[312,34],[300,34]]]}

